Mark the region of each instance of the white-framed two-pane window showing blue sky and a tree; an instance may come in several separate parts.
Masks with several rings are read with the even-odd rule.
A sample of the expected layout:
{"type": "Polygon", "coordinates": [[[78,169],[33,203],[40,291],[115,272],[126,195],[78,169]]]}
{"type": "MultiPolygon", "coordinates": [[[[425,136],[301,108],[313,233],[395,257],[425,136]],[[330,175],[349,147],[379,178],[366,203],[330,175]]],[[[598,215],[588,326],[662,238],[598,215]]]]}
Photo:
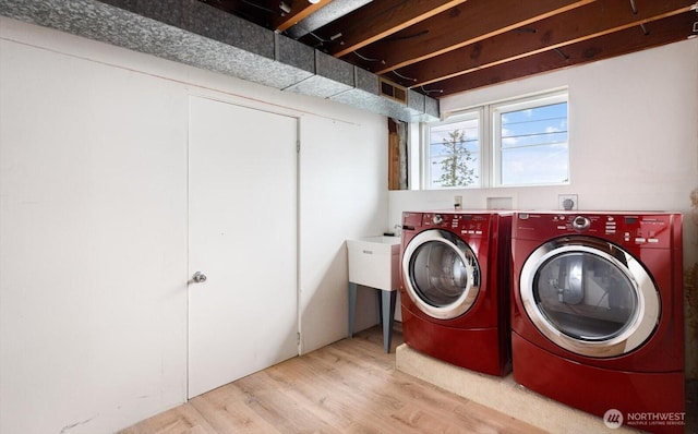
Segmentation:
{"type": "Polygon", "coordinates": [[[569,182],[566,92],[459,112],[424,136],[425,189],[569,182]]]}

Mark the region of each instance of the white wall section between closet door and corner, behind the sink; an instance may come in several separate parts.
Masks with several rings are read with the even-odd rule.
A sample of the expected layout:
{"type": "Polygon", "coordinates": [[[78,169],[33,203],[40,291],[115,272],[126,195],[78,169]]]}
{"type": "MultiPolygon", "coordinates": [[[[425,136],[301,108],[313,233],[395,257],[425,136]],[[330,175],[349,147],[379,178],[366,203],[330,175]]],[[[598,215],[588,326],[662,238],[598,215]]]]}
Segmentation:
{"type": "MultiPolygon", "coordinates": [[[[313,117],[303,123],[301,324],[303,351],[347,333],[347,238],[376,236],[387,221],[387,121],[371,124],[313,117]],[[317,290],[322,288],[322,290],[317,290]],[[337,298],[342,302],[338,303],[337,298]],[[339,328],[338,328],[339,327],[339,328]]],[[[356,330],[377,323],[375,290],[357,297],[356,330]]]]}

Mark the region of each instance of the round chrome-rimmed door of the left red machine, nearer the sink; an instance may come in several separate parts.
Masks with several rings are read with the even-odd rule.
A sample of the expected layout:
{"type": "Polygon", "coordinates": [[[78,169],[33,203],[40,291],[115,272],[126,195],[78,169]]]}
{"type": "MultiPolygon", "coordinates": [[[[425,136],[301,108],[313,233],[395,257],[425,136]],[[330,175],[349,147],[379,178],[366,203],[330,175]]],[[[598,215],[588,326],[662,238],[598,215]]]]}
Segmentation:
{"type": "Polygon", "coordinates": [[[480,267],[470,246],[452,232],[417,234],[402,255],[405,287],[425,314],[450,320],[466,313],[480,290],[480,267]]]}

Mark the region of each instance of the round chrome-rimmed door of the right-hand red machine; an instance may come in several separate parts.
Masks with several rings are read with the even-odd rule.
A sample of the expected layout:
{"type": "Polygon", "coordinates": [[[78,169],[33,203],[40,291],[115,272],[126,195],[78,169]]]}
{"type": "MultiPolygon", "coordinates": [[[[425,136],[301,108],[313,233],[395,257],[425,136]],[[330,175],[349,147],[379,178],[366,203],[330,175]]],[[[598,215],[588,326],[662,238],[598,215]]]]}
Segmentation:
{"type": "Polygon", "coordinates": [[[524,264],[519,291],[526,313],[547,339],[592,358],[637,349],[661,312],[645,267],[615,244],[588,237],[538,248],[524,264]]]}

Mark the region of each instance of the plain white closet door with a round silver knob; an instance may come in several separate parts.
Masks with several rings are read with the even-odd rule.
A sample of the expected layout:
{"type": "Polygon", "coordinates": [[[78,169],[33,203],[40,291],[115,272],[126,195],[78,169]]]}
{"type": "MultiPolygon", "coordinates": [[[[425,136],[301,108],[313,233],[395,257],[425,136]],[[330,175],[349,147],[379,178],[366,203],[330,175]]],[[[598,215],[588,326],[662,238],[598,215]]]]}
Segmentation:
{"type": "Polygon", "coordinates": [[[190,100],[189,397],[298,355],[297,119],[190,100]]]}

